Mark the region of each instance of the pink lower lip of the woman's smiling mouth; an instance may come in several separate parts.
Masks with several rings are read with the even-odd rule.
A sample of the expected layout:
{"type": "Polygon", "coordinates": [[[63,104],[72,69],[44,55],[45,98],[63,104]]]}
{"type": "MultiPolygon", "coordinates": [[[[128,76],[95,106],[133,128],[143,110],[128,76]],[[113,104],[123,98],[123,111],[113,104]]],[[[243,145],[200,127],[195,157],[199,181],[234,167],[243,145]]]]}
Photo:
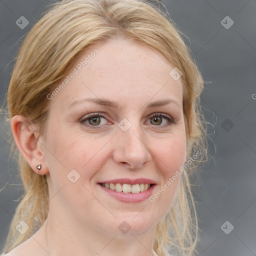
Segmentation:
{"type": "Polygon", "coordinates": [[[116,198],[121,202],[141,202],[147,199],[153,192],[155,184],[152,184],[147,190],[139,193],[124,193],[124,192],[117,192],[115,190],[111,190],[109,188],[105,188],[98,184],[106,193],[110,196],[116,198]]]}

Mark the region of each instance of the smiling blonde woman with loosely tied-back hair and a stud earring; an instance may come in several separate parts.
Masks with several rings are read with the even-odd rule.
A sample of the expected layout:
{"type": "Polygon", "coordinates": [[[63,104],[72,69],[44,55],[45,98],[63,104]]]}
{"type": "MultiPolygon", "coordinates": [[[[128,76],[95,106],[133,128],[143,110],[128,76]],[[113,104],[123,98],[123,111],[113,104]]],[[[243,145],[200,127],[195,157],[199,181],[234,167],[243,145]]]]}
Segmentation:
{"type": "Polygon", "coordinates": [[[3,253],[194,255],[202,89],[153,5],[54,4],[25,38],[8,88],[25,194],[3,253]]]}

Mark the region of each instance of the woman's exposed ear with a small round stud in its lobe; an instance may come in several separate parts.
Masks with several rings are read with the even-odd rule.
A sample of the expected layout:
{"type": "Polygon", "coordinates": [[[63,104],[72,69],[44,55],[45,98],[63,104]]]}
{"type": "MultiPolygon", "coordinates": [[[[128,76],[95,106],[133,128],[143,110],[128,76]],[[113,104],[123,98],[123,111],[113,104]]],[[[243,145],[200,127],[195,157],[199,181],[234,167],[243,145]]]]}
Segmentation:
{"type": "Polygon", "coordinates": [[[11,118],[11,131],[18,150],[34,172],[38,174],[49,173],[44,150],[38,140],[39,132],[36,131],[36,126],[29,123],[23,115],[17,114],[11,118]],[[40,170],[36,168],[38,164],[41,164],[40,170]]]}

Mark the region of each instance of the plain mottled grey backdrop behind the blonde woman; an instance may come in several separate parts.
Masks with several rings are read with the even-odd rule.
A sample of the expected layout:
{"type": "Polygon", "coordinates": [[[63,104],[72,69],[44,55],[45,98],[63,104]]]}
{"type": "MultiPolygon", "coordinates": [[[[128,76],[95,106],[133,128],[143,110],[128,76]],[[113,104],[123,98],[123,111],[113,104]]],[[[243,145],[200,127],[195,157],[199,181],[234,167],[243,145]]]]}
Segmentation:
{"type": "MultiPolygon", "coordinates": [[[[19,38],[25,35],[53,0],[0,1],[0,105],[4,103],[19,38]],[[20,29],[15,21],[25,16],[20,29]]],[[[214,156],[193,177],[202,256],[256,255],[256,2],[255,0],[164,0],[170,17],[188,38],[205,80],[201,98],[208,126],[209,153],[214,156]],[[234,24],[229,26],[230,19],[234,24]],[[221,20],[223,20],[221,22],[221,20]],[[226,23],[223,24],[222,23],[226,23]],[[254,99],[253,99],[254,98],[254,99]],[[223,230],[234,229],[226,234],[223,230]]],[[[161,7],[162,8],[162,7],[161,7]]],[[[0,115],[0,250],[11,221],[15,201],[22,192],[16,163],[0,115]],[[16,184],[16,185],[13,185],[16,184]]]]}

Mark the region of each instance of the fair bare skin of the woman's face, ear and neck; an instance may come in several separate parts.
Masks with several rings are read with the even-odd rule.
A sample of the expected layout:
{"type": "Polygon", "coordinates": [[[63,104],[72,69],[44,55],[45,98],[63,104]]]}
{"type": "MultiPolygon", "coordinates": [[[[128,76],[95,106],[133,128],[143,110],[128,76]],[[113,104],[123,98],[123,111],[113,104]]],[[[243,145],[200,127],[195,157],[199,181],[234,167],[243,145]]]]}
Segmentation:
{"type": "Polygon", "coordinates": [[[156,224],[171,206],[180,177],[154,202],[120,202],[97,182],[150,178],[156,183],[154,194],[182,165],[186,152],[182,82],[169,76],[174,66],[159,51],[133,40],[94,44],[70,70],[94,48],[99,50],[95,57],[50,100],[44,134],[36,133],[34,126],[21,129],[25,117],[12,118],[15,142],[36,173],[35,166],[41,163],[39,174],[47,174],[51,199],[42,227],[8,255],[25,250],[26,255],[65,256],[74,250],[77,256],[152,255],[156,224]],[[90,101],[69,107],[88,97],[104,97],[122,108],[90,101]],[[161,99],[173,99],[177,104],[146,108],[161,99]],[[99,128],[88,120],[80,122],[95,112],[106,114],[99,128]],[[150,119],[159,112],[175,123],[167,126],[164,116],[150,119]],[[127,131],[118,126],[123,118],[131,123],[127,131]],[[74,183],[66,177],[72,169],[80,175],[74,183]],[[118,228],[123,221],[131,227],[126,234],[118,228]]]}

